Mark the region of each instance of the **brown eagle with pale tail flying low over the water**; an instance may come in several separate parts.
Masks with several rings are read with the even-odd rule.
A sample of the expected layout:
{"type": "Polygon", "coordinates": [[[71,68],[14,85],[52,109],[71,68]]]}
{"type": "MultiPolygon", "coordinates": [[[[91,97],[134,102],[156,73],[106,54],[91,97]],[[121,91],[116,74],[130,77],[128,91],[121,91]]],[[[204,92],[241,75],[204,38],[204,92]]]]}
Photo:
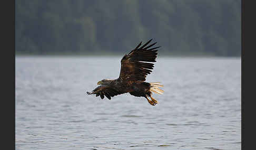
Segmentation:
{"type": "Polygon", "coordinates": [[[158,102],[152,98],[152,92],[163,94],[164,91],[159,89],[163,85],[160,82],[145,82],[145,80],[147,74],[150,74],[154,67],[154,64],[150,62],[156,62],[157,48],[161,46],[152,48],[156,42],[148,45],[151,41],[152,39],[144,45],[141,41],[131,52],[123,56],[119,78],[115,80],[103,79],[97,82],[99,87],[86,93],[96,94],[96,97],[100,96],[101,99],[104,99],[105,95],[111,100],[116,95],[129,92],[135,97],[146,98],[151,105],[156,105],[158,102]]]}

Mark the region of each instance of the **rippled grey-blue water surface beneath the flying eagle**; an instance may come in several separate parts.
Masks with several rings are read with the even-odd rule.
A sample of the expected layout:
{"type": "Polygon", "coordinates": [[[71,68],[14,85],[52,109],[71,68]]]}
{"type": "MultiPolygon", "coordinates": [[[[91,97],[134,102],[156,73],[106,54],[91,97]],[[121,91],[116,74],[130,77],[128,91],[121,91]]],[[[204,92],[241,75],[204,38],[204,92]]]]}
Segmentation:
{"type": "Polygon", "coordinates": [[[87,95],[121,57],[16,57],[16,149],[241,149],[241,58],[157,58],[155,106],[87,95]]]}

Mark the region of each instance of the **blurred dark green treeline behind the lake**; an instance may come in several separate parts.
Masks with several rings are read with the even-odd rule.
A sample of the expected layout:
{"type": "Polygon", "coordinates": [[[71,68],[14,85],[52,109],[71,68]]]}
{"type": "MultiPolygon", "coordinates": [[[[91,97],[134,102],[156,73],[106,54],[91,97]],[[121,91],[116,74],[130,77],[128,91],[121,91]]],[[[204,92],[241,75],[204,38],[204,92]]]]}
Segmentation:
{"type": "Polygon", "coordinates": [[[241,55],[241,1],[16,0],[16,54],[241,55]],[[159,46],[157,45],[157,46],[159,46]]]}

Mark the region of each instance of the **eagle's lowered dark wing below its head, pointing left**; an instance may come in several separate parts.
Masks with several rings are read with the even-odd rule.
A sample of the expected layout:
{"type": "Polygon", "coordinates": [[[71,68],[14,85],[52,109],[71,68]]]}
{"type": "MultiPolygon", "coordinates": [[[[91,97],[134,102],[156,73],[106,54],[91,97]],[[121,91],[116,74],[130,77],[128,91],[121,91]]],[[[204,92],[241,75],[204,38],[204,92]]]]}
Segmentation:
{"type": "Polygon", "coordinates": [[[115,95],[122,94],[115,89],[111,88],[110,86],[107,85],[100,85],[96,89],[92,90],[92,92],[87,92],[87,94],[96,94],[96,97],[101,96],[101,99],[104,99],[104,95],[111,100],[111,97],[114,97],[115,95]]]}

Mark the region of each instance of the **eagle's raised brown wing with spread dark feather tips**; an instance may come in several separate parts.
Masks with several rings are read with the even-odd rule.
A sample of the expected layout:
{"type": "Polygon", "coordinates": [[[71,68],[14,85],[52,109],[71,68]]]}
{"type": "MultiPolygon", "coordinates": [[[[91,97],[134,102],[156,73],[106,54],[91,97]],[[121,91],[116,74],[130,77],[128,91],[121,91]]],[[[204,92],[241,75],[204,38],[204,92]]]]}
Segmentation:
{"type": "Polygon", "coordinates": [[[146,80],[146,75],[150,74],[154,67],[154,64],[149,62],[155,62],[157,55],[157,50],[155,49],[160,47],[151,48],[156,42],[147,46],[151,40],[146,42],[143,46],[141,46],[142,42],[140,42],[128,55],[124,55],[121,60],[119,79],[130,83],[146,80]]]}

